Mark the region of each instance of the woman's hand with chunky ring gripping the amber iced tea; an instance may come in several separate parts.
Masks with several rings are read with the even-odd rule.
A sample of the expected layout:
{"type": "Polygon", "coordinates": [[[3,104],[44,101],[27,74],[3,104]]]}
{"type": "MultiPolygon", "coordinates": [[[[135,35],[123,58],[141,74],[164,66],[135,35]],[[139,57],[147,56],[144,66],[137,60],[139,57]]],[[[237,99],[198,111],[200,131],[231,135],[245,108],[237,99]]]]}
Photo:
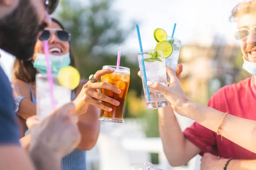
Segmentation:
{"type": "Polygon", "coordinates": [[[106,82],[98,82],[100,77],[105,74],[113,73],[114,69],[104,69],[99,70],[95,74],[92,74],[89,77],[89,81],[83,86],[80,94],[76,97],[73,103],[76,105],[76,113],[78,115],[84,114],[90,105],[96,106],[104,111],[112,111],[108,106],[102,105],[99,101],[105,101],[112,105],[118,106],[120,103],[104,94],[101,94],[97,89],[107,89],[111,90],[116,94],[120,94],[121,90],[114,85],[111,85],[106,82]]]}

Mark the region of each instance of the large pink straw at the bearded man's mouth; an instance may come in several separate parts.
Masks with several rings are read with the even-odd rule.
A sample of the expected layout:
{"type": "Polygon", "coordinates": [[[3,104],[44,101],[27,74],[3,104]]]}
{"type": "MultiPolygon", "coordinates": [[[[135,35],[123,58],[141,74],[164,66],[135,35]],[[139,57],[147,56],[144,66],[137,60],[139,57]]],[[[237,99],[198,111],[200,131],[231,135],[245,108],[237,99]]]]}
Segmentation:
{"type": "Polygon", "coordinates": [[[51,69],[51,66],[50,66],[50,59],[49,59],[49,43],[48,43],[48,40],[44,41],[44,55],[45,55],[45,60],[46,60],[46,71],[47,71],[48,82],[49,82],[49,87],[50,87],[52,109],[55,109],[55,102],[54,102],[54,97],[53,97],[52,69],[51,69]]]}

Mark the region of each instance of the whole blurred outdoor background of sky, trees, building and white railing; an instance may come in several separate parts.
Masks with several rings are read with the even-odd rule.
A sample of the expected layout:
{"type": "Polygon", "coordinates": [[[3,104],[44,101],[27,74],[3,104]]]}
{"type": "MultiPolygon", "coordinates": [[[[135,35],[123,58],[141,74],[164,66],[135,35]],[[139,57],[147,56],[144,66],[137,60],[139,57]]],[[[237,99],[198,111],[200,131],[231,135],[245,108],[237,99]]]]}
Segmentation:
{"type": "MultiPolygon", "coordinates": [[[[186,94],[207,104],[224,85],[249,77],[239,42],[233,33],[236,23],[229,17],[241,0],[62,0],[54,17],[72,34],[71,44],[81,76],[115,65],[122,51],[121,66],[131,68],[131,82],[125,103],[125,123],[102,123],[96,147],[87,155],[88,170],[125,170],[150,161],[171,169],[163,155],[159,138],[157,110],[146,110],[142,82],[137,77],[139,43],[135,25],[139,24],[144,50],[154,49],[153,32],[163,28],[182,42],[180,79],[186,94]],[[109,156],[109,154],[113,156],[109,156]],[[123,165],[123,167],[120,167],[123,165]],[[119,168],[118,168],[119,167],[119,168]]],[[[14,58],[0,51],[0,65],[12,79],[14,58]]],[[[192,121],[178,116],[181,128],[192,121]]],[[[196,170],[198,158],[172,169],[196,170]]]]}

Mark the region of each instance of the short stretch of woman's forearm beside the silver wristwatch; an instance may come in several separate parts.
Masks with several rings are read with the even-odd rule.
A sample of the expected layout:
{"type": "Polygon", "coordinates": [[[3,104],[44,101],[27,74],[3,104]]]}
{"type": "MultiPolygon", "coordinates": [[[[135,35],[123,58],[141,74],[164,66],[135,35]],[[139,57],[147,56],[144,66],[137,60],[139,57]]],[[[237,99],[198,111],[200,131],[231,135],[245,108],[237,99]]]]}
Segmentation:
{"type": "Polygon", "coordinates": [[[20,102],[18,115],[23,119],[36,115],[36,105],[29,99],[23,99],[20,102]]]}

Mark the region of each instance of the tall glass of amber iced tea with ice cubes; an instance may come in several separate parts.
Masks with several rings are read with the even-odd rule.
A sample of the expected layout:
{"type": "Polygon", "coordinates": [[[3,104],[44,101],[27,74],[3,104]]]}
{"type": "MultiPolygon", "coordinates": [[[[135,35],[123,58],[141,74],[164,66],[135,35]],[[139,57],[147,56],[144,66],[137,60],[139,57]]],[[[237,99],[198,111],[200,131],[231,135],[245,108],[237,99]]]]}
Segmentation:
{"type": "Polygon", "coordinates": [[[106,122],[116,122],[116,123],[123,123],[123,110],[125,106],[125,98],[128,92],[129,83],[130,83],[130,68],[126,67],[119,67],[116,69],[116,66],[112,65],[104,65],[102,69],[106,68],[113,68],[115,72],[111,74],[105,74],[101,77],[101,82],[107,82],[111,85],[116,86],[122,92],[120,94],[116,94],[113,91],[101,89],[101,93],[105,94],[112,99],[117,100],[120,102],[119,106],[111,105],[108,102],[102,101],[102,104],[112,108],[111,112],[101,110],[99,121],[106,121],[106,122]]]}

